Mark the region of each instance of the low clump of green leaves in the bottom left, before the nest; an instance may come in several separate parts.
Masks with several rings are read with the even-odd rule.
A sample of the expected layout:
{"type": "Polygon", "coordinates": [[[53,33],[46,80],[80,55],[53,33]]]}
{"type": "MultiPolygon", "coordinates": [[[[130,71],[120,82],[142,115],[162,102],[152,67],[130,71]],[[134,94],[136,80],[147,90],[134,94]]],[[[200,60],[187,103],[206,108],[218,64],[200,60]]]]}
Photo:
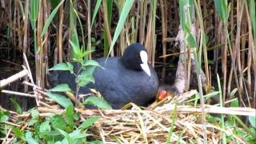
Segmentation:
{"type": "MultiPolygon", "coordinates": [[[[34,130],[21,130],[14,127],[13,132],[18,142],[27,143],[84,143],[87,142],[86,131],[98,122],[99,118],[88,118],[79,124],[79,114],[74,112],[74,106],[68,106],[66,113],[50,118],[40,118],[38,110],[30,110],[32,119],[37,119],[30,127],[34,130]],[[78,125],[78,127],[75,126],[78,125]]],[[[32,121],[31,119],[31,121],[32,121]]],[[[89,142],[94,143],[94,142],[89,142]]],[[[102,143],[97,141],[96,143],[102,143]]]]}

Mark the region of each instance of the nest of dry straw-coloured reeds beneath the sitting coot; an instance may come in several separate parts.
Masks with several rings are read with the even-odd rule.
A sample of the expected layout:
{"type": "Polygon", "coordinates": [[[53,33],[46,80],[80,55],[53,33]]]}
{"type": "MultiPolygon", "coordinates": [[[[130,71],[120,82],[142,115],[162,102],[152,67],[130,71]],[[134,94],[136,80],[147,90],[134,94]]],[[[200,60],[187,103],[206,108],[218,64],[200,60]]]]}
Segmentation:
{"type": "MultiPolygon", "coordinates": [[[[31,78],[30,70],[23,70],[19,74],[7,78],[6,81],[13,82],[25,75],[31,78]]],[[[61,106],[47,98],[46,94],[40,87],[34,85],[33,81],[32,83],[23,83],[33,86],[34,94],[8,90],[2,90],[2,92],[36,98],[39,116],[42,118],[65,112],[61,106]]],[[[81,121],[90,117],[99,118],[99,121],[88,130],[88,133],[92,134],[90,139],[100,140],[104,143],[166,143],[169,140],[180,143],[203,143],[204,134],[207,135],[207,142],[219,143],[222,140],[222,133],[233,134],[235,141],[245,143],[232,130],[223,130],[218,123],[202,122],[202,108],[188,102],[197,93],[197,90],[191,90],[184,94],[167,97],[161,102],[154,102],[143,110],[134,104],[130,104],[130,110],[84,110],[78,108],[75,110],[81,113],[81,121]]],[[[203,110],[206,114],[255,115],[256,113],[254,109],[225,108],[218,105],[205,105],[203,110]]],[[[18,114],[12,111],[10,113],[10,121],[6,122],[6,125],[17,126],[20,130],[33,130],[28,126],[31,119],[30,113],[18,114]],[[18,119],[23,120],[22,124],[17,124],[18,119]]],[[[10,130],[6,138],[2,138],[2,141],[12,142],[14,138],[15,135],[10,130]]]]}

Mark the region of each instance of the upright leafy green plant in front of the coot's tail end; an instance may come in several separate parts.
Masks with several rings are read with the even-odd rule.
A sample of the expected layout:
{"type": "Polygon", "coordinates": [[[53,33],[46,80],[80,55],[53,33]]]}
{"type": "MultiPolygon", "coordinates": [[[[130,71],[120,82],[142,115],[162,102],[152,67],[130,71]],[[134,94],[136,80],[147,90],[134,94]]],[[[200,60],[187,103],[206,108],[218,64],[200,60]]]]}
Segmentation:
{"type": "MultiPolygon", "coordinates": [[[[50,70],[67,70],[70,71],[70,74],[74,74],[75,82],[77,83],[77,90],[76,90],[76,97],[78,97],[78,91],[80,87],[86,86],[90,82],[94,82],[94,70],[95,68],[101,67],[98,62],[94,60],[89,60],[88,55],[92,52],[92,50],[84,50],[80,48],[79,41],[78,41],[78,34],[77,30],[74,28],[74,33],[72,36],[73,41],[70,40],[70,45],[73,48],[73,62],[74,65],[80,66],[79,70],[74,70],[74,65],[70,62],[60,63],[55,65],[54,67],[50,68],[50,70]]],[[[60,84],[55,86],[50,92],[47,93],[48,97],[54,99],[55,102],[58,102],[63,107],[67,107],[72,105],[72,102],[69,98],[66,98],[60,94],[54,94],[52,92],[65,92],[65,91],[72,91],[67,84],[60,84]]],[[[87,100],[88,101],[88,100],[87,100]]],[[[111,109],[111,106],[102,98],[92,98],[90,102],[85,102],[84,104],[98,106],[99,108],[106,108],[111,109]],[[94,102],[95,101],[95,102],[94,102]]]]}

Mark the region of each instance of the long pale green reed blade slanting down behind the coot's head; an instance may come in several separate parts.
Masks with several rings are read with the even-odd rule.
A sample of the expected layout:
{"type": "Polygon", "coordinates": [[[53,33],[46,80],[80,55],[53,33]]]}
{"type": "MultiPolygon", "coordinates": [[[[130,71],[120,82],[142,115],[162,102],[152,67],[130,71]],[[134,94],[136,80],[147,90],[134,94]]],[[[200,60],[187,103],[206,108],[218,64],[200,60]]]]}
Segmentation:
{"type": "Polygon", "coordinates": [[[120,18],[118,20],[118,26],[116,27],[116,30],[114,32],[114,37],[110,46],[110,51],[108,56],[110,55],[110,52],[114,48],[115,42],[118,40],[119,35],[121,34],[122,28],[124,27],[126,23],[126,18],[130,12],[131,7],[134,5],[134,0],[126,1],[124,6],[122,7],[122,12],[120,14],[120,18]]]}

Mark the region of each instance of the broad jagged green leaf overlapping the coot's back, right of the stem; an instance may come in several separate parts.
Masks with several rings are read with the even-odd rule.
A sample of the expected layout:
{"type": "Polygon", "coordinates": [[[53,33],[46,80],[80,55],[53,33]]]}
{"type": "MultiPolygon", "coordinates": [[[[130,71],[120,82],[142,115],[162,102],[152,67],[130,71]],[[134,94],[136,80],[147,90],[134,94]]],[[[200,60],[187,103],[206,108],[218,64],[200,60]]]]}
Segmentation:
{"type": "MultiPolygon", "coordinates": [[[[94,67],[95,69],[95,67],[94,67]]],[[[90,82],[94,83],[94,76],[93,76],[93,70],[83,70],[81,74],[78,74],[78,77],[75,78],[75,82],[78,84],[78,86],[86,86],[90,82]]]]}

